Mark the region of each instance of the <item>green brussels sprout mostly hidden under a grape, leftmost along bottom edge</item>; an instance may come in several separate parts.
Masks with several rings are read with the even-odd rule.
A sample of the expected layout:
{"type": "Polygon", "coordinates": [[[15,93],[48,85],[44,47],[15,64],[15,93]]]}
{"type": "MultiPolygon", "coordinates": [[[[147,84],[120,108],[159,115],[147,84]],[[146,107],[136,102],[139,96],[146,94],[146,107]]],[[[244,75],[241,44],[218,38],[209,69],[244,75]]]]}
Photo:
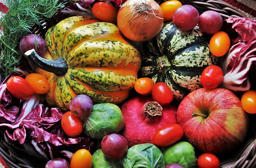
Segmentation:
{"type": "Polygon", "coordinates": [[[92,155],[92,167],[93,168],[122,168],[121,159],[109,159],[107,158],[101,149],[98,149],[92,155]]]}

